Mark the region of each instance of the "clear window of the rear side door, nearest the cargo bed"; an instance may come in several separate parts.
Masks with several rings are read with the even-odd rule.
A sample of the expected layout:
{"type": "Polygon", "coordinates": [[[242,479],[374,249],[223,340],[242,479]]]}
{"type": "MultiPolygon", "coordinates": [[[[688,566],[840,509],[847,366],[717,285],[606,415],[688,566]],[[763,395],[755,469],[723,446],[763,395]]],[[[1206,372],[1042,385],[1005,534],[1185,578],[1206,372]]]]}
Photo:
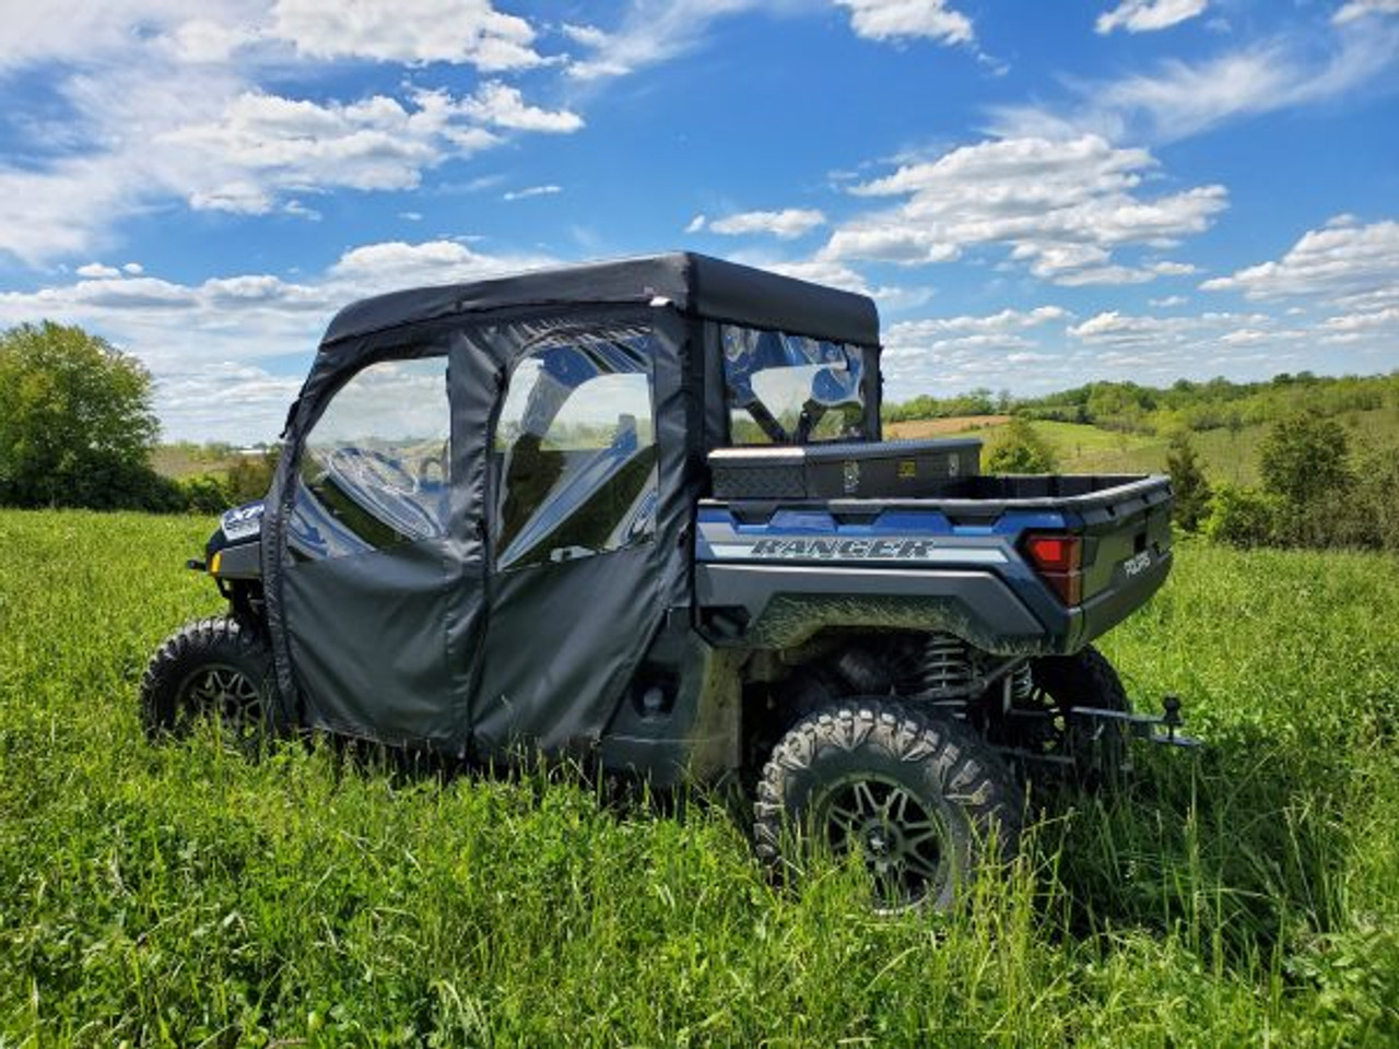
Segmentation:
{"type": "Polygon", "coordinates": [[[569,340],[515,365],[495,428],[498,568],[568,561],[655,534],[651,340],[569,340]]]}

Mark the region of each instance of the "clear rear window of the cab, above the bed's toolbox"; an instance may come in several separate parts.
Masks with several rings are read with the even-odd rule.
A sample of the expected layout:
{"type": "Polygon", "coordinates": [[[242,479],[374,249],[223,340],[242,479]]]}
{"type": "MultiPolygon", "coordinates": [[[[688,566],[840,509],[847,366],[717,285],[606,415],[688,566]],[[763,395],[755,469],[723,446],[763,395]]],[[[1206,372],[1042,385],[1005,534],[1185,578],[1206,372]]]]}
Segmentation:
{"type": "Polygon", "coordinates": [[[720,327],[734,445],[865,438],[865,352],[785,331],[720,327]]]}

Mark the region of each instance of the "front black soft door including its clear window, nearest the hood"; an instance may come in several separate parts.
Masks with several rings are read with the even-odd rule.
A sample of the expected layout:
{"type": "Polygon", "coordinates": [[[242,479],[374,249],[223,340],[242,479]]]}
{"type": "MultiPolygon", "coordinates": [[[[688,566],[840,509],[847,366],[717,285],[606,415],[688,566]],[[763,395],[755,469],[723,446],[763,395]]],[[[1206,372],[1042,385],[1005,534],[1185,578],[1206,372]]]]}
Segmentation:
{"type": "Polygon", "coordinates": [[[483,552],[453,484],[453,358],[442,344],[368,364],[301,442],[283,594],[312,725],[399,744],[464,741],[483,552]]]}

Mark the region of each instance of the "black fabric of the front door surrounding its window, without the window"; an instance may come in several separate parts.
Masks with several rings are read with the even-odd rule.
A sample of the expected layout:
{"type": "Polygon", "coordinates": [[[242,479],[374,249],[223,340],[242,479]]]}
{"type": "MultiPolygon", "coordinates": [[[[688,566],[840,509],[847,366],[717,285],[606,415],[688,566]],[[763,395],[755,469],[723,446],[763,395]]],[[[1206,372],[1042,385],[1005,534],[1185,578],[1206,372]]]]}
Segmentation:
{"type": "Polygon", "coordinates": [[[292,408],[263,522],[267,624],[288,720],[390,743],[459,747],[484,628],[484,431],[495,362],[441,326],[358,340],[318,357],[292,408]],[[360,368],[448,352],[448,534],[385,551],[292,562],[287,519],[305,436],[360,368]]]}

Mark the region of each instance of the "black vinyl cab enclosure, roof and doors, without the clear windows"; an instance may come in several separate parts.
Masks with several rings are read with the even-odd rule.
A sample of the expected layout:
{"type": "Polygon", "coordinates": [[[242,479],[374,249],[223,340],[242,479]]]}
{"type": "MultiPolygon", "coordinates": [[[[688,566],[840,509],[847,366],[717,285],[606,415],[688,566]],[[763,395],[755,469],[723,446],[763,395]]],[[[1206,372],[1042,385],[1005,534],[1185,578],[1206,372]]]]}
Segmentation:
{"type": "Polygon", "coordinates": [[[693,255],[404,291],[341,311],[288,414],[263,526],[284,718],[478,755],[518,740],[550,751],[595,744],[667,613],[691,606],[694,506],[705,455],[723,439],[723,385],[706,352],[719,322],[859,344],[872,366],[877,352],[867,298],[693,255]],[[512,371],[548,340],[638,331],[655,415],[649,533],[588,555],[495,564],[494,432],[512,371]],[[298,460],[326,404],[371,364],[439,354],[450,401],[446,534],[294,557],[298,460]]]}

